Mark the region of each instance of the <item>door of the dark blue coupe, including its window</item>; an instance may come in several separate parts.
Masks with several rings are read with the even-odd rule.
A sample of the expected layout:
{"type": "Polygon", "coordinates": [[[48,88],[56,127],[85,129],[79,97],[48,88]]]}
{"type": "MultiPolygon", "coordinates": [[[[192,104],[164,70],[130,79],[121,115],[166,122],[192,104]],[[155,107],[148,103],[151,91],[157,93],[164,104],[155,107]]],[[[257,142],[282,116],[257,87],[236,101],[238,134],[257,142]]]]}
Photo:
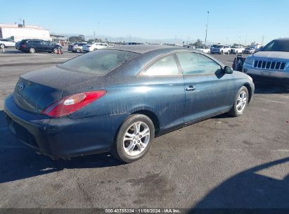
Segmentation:
{"type": "Polygon", "coordinates": [[[221,65],[201,53],[176,53],[184,74],[186,124],[210,118],[233,106],[233,75],[225,74],[221,65]]]}

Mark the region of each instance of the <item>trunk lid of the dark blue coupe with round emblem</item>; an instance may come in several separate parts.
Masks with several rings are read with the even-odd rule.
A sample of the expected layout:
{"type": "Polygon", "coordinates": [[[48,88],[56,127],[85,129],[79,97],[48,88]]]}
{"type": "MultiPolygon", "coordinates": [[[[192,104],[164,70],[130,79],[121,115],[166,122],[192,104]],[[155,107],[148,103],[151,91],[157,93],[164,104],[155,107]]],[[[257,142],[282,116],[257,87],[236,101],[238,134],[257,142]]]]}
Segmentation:
{"type": "Polygon", "coordinates": [[[32,113],[41,113],[51,103],[68,94],[65,88],[91,79],[91,75],[73,73],[57,67],[44,68],[22,75],[14,89],[13,98],[18,107],[32,113]]]}

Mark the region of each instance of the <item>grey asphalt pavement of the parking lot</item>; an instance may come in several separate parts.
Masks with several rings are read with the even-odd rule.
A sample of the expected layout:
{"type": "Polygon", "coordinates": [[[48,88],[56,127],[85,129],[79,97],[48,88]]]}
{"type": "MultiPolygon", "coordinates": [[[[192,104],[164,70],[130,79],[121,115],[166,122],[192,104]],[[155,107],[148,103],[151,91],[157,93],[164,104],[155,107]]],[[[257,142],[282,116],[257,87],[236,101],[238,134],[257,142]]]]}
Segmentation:
{"type": "MultiPolygon", "coordinates": [[[[135,163],[109,154],[51,160],[20,143],[3,111],[19,75],[78,55],[0,52],[0,208],[289,208],[283,85],[256,82],[244,115],[219,115],[158,137],[135,163]]],[[[235,56],[214,57],[232,65],[235,56]]]]}

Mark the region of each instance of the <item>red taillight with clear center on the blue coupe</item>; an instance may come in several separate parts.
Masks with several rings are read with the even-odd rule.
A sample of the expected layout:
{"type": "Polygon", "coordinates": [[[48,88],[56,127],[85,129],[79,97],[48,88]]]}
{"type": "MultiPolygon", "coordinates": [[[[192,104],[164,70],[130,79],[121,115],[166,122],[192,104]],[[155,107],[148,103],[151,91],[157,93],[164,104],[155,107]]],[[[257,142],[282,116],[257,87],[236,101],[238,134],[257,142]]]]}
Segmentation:
{"type": "Polygon", "coordinates": [[[84,92],[80,94],[73,94],[70,96],[65,96],[50,106],[48,106],[42,114],[49,115],[51,118],[59,118],[70,113],[73,113],[89,103],[96,101],[101,98],[106,93],[105,90],[84,92]]]}

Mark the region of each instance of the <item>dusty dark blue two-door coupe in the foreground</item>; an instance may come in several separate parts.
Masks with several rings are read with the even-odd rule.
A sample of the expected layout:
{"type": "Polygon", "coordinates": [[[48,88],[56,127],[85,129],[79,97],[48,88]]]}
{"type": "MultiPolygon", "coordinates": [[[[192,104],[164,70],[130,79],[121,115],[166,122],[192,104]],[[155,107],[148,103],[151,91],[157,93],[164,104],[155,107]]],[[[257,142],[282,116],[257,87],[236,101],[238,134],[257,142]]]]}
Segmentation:
{"type": "Polygon", "coordinates": [[[242,115],[254,89],[251,77],[200,51],[117,46],[21,75],[4,111],[11,132],[47,156],[111,152],[130,163],[154,137],[242,115]]]}

